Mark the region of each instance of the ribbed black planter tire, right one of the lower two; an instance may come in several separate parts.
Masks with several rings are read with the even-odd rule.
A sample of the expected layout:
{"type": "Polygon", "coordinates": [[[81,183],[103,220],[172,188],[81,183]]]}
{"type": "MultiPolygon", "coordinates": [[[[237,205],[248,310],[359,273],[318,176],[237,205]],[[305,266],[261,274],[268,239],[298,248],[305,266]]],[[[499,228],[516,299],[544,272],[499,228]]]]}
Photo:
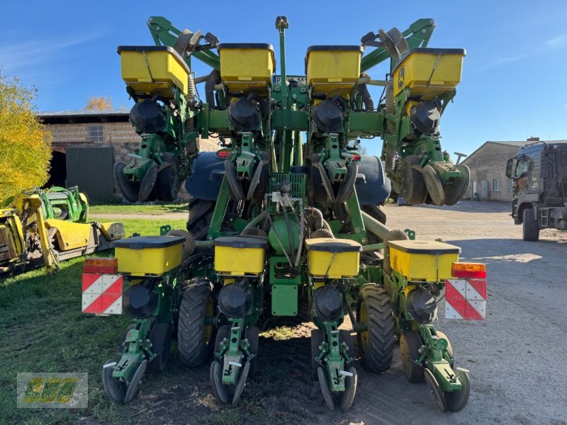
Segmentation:
{"type": "Polygon", "coordinates": [[[364,368],[383,373],[392,363],[395,326],[390,296],[384,288],[367,283],[357,302],[357,320],[366,321],[367,330],[358,331],[359,353],[364,368]]]}

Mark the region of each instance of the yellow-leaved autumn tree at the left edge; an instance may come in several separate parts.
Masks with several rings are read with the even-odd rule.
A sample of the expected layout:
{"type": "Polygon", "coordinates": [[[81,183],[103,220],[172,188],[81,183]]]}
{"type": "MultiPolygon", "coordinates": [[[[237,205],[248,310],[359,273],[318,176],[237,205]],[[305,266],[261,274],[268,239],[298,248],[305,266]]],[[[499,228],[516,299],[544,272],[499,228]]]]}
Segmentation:
{"type": "Polygon", "coordinates": [[[0,76],[0,200],[49,177],[52,137],[33,111],[35,95],[18,78],[0,76]]]}

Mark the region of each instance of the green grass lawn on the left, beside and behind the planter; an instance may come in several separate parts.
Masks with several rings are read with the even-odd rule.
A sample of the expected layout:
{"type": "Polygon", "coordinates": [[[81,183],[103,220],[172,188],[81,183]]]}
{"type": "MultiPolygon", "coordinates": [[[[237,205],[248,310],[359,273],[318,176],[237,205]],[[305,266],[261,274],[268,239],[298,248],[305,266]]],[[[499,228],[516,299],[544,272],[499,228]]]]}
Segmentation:
{"type": "MultiPolygon", "coordinates": [[[[122,220],[126,234],[159,234],[159,226],[185,227],[184,220],[122,220]]],[[[101,253],[102,254],[102,253],[101,253]]],[[[102,254],[105,255],[105,254],[102,254]]],[[[63,261],[60,271],[43,268],[0,280],[0,418],[3,424],[64,424],[83,416],[103,423],[128,421],[127,407],[108,402],[101,365],[116,357],[118,341],[131,319],[81,312],[84,257],[63,261]],[[18,372],[89,373],[89,409],[18,409],[18,372]]]]}

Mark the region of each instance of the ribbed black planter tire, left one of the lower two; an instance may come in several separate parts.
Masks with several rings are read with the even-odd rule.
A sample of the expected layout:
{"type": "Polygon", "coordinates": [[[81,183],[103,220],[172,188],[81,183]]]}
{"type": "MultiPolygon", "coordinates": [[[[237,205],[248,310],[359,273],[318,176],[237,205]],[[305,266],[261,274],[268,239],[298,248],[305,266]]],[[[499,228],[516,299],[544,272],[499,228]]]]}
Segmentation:
{"type": "Polygon", "coordinates": [[[179,306],[177,346],[181,361],[191,368],[198,368],[208,361],[215,341],[214,328],[206,339],[205,318],[209,302],[213,303],[214,312],[210,288],[206,285],[191,285],[185,290],[179,306]]]}

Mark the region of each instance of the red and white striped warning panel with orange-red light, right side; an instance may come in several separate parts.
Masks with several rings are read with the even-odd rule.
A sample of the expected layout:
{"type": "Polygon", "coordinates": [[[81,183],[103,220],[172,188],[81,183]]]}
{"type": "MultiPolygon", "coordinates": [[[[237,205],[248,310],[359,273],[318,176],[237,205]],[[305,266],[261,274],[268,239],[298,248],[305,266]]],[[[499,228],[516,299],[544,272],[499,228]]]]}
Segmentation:
{"type": "Polygon", "coordinates": [[[453,263],[445,282],[445,318],[484,320],[486,317],[486,266],[453,263]]]}

